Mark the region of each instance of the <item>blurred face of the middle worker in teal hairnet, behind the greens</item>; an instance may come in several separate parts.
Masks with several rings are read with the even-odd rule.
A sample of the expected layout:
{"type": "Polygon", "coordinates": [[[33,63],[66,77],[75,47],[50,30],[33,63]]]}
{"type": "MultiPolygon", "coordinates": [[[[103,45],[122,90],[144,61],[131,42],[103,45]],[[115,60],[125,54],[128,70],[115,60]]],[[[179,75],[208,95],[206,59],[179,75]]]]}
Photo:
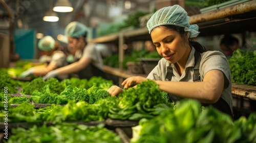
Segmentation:
{"type": "Polygon", "coordinates": [[[69,40],[69,44],[68,44],[68,50],[73,54],[75,53],[78,49],[82,49],[83,46],[83,42],[82,40],[79,38],[72,38],[72,37],[68,37],[69,40]]]}

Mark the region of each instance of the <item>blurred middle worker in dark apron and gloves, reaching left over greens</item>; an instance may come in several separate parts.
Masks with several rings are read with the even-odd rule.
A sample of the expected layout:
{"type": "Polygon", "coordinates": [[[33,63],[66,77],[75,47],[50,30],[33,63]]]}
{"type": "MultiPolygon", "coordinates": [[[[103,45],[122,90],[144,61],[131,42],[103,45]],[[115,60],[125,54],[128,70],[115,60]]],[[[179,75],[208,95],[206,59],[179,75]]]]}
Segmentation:
{"type": "Polygon", "coordinates": [[[52,70],[43,79],[48,80],[58,75],[76,73],[81,79],[90,79],[93,76],[105,78],[103,60],[96,50],[94,43],[87,42],[88,28],[80,22],[73,21],[65,28],[68,36],[68,49],[74,53],[74,62],[52,70]]]}

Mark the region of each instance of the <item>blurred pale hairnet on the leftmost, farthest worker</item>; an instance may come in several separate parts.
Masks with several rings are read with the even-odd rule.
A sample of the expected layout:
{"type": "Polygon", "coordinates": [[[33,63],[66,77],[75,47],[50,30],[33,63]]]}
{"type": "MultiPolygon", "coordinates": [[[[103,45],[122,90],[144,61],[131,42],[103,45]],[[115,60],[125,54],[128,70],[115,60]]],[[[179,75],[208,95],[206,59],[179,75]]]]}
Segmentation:
{"type": "Polygon", "coordinates": [[[42,51],[51,51],[54,49],[55,40],[51,36],[45,36],[38,42],[38,48],[42,51]]]}

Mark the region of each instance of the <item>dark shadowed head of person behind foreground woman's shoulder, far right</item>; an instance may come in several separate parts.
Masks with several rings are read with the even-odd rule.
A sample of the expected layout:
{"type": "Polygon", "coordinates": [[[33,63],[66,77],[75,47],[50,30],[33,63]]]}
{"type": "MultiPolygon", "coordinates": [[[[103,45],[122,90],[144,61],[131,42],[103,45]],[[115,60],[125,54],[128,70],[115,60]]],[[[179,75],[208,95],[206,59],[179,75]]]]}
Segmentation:
{"type": "Polygon", "coordinates": [[[225,35],[220,42],[222,53],[229,59],[233,52],[239,48],[239,41],[231,35],[225,35]]]}

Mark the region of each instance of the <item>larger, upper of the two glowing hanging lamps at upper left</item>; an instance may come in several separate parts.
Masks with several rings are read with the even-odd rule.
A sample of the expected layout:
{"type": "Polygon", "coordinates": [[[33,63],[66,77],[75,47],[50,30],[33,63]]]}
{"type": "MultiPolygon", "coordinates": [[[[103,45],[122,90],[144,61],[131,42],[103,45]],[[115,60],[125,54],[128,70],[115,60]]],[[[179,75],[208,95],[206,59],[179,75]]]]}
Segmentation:
{"type": "Polygon", "coordinates": [[[72,5],[68,0],[58,0],[53,8],[56,12],[71,12],[73,11],[72,5]]]}

